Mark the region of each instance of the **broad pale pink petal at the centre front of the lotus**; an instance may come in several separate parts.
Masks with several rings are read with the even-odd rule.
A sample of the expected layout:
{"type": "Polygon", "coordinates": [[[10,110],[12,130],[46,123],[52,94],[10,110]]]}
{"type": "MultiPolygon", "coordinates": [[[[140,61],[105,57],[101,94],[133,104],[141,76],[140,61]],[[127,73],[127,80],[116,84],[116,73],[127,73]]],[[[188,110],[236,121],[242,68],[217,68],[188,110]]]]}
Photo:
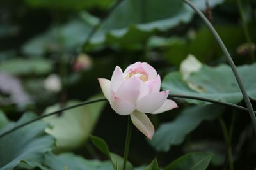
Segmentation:
{"type": "Polygon", "coordinates": [[[132,77],[125,80],[116,92],[116,96],[122,97],[133,104],[137,103],[138,96],[140,95],[140,87],[143,81],[138,77],[132,77]]]}

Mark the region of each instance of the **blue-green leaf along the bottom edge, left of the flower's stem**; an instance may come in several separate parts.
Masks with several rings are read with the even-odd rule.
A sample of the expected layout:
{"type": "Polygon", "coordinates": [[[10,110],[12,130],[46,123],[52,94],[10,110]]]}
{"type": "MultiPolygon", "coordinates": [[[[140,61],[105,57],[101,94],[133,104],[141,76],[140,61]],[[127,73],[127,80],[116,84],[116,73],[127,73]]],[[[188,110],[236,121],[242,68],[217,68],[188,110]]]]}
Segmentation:
{"type": "Polygon", "coordinates": [[[113,170],[110,161],[87,160],[73,153],[54,155],[48,152],[45,154],[44,165],[51,170],[62,170],[65,168],[70,170],[113,170]]]}

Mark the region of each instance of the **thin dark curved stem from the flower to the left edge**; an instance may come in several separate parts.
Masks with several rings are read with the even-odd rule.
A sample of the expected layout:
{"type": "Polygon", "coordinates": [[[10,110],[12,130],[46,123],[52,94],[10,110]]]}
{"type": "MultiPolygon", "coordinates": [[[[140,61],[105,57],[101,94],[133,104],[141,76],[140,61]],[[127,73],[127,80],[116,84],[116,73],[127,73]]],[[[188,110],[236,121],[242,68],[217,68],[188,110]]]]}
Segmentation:
{"type": "Polygon", "coordinates": [[[51,116],[51,115],[57,115],[58,113],[60,113],[60,112],[62,112],[62,111],[70,110],[70,109],[72,109],[72,108],[76,108],[76,107],[78,107],[78,106],[83,106],[83,105],[85,105],[85,104],[96,103],[96,102],[99,102],[99,101],[106,101],[106,99],[105,99],[105,98],[101,98],[101,99],[95,99],[95,100],[92,100],[92,101],[84,101],[84,102],[82,102],[82,103],[75,104],[75,105],[73,105],[73,106],[68,106],[67,108],[62,108],[61,110],[57,110],[57,111],[54,111],[54,112],[52,112],[52,113],[48,113],[48,114],[46,114],[46,115],[41,115],[40,117],[37,117],[37,118],[35,118],[35,119],[33,119],[33,120],[30,120],[30,121],[28,121],[28,122],[26,122],[26,123],[24,123],[24,124],[17,125],[16,127],[13,127],[13,129],[10,129],[9,131],[3,132],[3,134],[0,134],[0,139],[3,138],[4,136],[6,136],[7,134],[12,133],[13,131],[16,131],[16,130],[18,130],[18,129],[20,129],[20,128],[22,128],[22,127],[28,125],[28,124],[31,124],[31,123],[33,123],[33,122],[36,122],[37,120],[40,120],[40,119],[42,119],[42,118],[49,117],[49,116],[51,116]]]}

